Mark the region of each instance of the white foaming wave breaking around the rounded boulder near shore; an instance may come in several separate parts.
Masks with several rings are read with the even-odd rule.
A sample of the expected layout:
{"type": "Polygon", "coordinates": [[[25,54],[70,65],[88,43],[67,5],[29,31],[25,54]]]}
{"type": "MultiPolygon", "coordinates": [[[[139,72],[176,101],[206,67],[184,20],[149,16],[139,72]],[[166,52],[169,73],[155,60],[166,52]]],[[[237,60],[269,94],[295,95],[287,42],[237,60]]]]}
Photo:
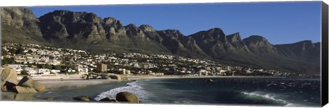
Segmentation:
{"type": "Polygon", "coordinates": [[[117,87],[112,90],[108,90],[106,92],[102,92],[101,94],[98,94],[94,100],[101,100],[103,98],[115,98],[119,92],[131,92],[132,94],[135,94],[140,100],[143,100],[147,98],[148,93],[143,90],[143,87],[138,85],[138,81],[134,81],[131,83],[127,83],[127,86],[123,87],[117,87]]]}

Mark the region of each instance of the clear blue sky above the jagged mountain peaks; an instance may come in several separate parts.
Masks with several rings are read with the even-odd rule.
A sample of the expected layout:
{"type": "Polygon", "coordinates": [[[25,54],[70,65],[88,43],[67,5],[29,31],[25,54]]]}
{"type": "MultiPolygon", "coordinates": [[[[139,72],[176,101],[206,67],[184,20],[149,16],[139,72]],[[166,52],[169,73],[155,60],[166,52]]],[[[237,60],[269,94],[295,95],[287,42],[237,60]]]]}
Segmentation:
{"type": "Polygon", "coordinates": [[[321,2],[202,3],[158,5],[80,5],[28,7],[39,17],[53,10],[93,12],[114,17],[128,25],[151,25],[154,29],[178,29],[184,35],[214,27],[224,33],[239,32],[241,38],[259,35],[272,44],[321,39],[321,2]]]}

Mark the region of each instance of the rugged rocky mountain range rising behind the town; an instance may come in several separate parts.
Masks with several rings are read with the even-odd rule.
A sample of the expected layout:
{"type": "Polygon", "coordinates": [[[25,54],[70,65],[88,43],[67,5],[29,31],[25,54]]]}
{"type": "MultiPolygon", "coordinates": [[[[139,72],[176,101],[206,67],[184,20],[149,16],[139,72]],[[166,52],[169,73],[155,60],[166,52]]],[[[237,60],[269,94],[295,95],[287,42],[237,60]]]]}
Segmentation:
{"type": "Polygon", "coordinates": [[[94,53],[152,53],[205,58],[232,66],[306,75],[320,73],[320,42],[271,44],[263,36],[241,39],[219,28],[184,36],[177,29],[123,25],[88,12],[55,10],[37,18],[26,8],[1,8],[2,42],[34,43],[94,53]]]}

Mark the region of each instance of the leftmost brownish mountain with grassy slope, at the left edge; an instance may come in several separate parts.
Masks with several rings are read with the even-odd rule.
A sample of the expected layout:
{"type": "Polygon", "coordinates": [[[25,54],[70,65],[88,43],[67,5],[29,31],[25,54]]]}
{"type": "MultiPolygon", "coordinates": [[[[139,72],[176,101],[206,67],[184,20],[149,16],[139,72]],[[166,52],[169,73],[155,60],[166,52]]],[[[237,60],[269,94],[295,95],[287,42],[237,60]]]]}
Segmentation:
{"type": "Polygon", "coordinates": [[[47,44],[42,38],[32,10],[25,8],[0,8],[2,42],[47,44]]]}

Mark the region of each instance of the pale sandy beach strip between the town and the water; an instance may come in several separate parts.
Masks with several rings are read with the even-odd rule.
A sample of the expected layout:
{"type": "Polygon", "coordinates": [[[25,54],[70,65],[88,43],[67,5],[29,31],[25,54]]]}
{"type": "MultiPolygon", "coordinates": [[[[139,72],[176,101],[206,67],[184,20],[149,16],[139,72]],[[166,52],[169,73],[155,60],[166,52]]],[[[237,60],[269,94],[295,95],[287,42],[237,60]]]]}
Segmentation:
{"type": "MultiPolygon", "coordinates": [[[[178,76],[178,75],[164,75],[164,76],[149,76],[149,75],[119,75],[121,81],[134,81],[142,79],[194,79],[194,78],[286,78],[286,77],[258,77],[258,76],[178,76]]],[[[19,76],[21,80],[23,76],[19,76]]],[[[82,79],[81,75],[59,75],[59,76],[39,76],[32,77],[35,81],[45,85],[45,92],[49,90],[65,89],[65,87],[85,87],[86,85],[99,85],[103,83],[121,82],[117,79],[82,79]],[[63,77],[64,76],[64,77],[63,77]]]]}

